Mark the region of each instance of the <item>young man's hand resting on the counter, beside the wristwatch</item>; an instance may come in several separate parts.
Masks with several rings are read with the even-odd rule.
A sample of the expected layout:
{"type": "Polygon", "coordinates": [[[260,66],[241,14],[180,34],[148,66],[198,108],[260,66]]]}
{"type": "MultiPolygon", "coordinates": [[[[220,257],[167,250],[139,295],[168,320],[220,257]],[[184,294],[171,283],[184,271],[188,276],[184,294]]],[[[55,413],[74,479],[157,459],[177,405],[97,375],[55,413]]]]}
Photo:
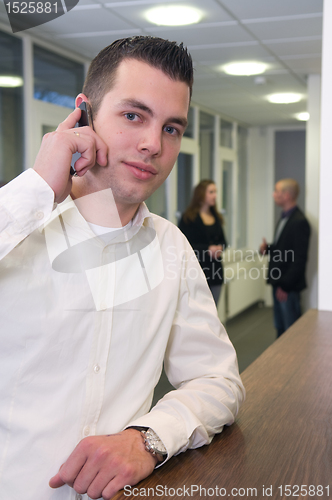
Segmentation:
{"type": "Polygon", "coordinates": [[[133,486],[149,476],[156,464],[141,433],[126,429],[83,439],[49,484],[51,488],[68,484],[77,493],[109,500],[126,484],[133,486]]]}

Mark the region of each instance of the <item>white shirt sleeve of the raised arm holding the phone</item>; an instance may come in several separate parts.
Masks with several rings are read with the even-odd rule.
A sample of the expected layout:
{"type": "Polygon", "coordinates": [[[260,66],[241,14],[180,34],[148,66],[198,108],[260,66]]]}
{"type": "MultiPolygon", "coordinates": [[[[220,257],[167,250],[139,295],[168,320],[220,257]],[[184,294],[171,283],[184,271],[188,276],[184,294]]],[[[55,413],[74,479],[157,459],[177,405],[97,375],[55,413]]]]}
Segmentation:
{"type": "Polygon", "coordinates": [[[33,169],[0,189],[0,259],[49,218],[54,192],[33,169]]]}

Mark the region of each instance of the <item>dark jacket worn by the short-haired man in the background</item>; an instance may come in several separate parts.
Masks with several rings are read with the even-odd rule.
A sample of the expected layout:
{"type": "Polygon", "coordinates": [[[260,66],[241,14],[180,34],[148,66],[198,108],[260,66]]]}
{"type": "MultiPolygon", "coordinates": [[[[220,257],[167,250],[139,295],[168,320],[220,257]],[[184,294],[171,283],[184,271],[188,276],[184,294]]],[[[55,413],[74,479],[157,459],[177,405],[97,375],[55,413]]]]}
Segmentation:
{"type": "Polygon", "coordinates": [[[309,237],[309,223],[303,212],[296,207],[277,242],[268,246],[268,283],[274,287],[280,286],[285,292],[300,292],[306,288],[309,237]]]}

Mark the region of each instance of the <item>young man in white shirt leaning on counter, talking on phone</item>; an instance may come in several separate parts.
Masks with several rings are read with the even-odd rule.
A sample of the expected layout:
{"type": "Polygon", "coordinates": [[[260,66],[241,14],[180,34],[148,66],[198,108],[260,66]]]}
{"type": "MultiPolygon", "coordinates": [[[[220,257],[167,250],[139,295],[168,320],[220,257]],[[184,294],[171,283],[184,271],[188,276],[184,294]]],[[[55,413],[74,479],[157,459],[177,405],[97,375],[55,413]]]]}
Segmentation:
{"type": "Polygon", "coordinates": [[[75,109],[0,192],[6,498],[110,499],[234,421],[244,389],[200,266],[142,203],[176,161],[191,87],[182,45],[114,42],[76,100],[93,128],[75,109]],[[177,390],[149,411],[163,362],[177,390]]]}

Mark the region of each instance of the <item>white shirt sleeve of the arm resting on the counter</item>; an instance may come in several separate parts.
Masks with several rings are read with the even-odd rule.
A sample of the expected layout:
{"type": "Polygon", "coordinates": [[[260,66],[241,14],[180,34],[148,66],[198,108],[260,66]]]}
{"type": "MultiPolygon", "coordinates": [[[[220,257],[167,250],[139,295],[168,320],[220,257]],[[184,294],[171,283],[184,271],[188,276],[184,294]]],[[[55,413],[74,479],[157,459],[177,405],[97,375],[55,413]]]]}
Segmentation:
{"type": "MultiPolygon", "coordinates": [[[[189,246],[189,245],[188,245],[189,246]]],[[[244,400],[237,357],[221,325],[204,274],[187,249],[178,308],[165,354],[165,371],[176,390],[130,425],[151,427],[168,458],[211,442],[234,422],[244,400]]]]}

